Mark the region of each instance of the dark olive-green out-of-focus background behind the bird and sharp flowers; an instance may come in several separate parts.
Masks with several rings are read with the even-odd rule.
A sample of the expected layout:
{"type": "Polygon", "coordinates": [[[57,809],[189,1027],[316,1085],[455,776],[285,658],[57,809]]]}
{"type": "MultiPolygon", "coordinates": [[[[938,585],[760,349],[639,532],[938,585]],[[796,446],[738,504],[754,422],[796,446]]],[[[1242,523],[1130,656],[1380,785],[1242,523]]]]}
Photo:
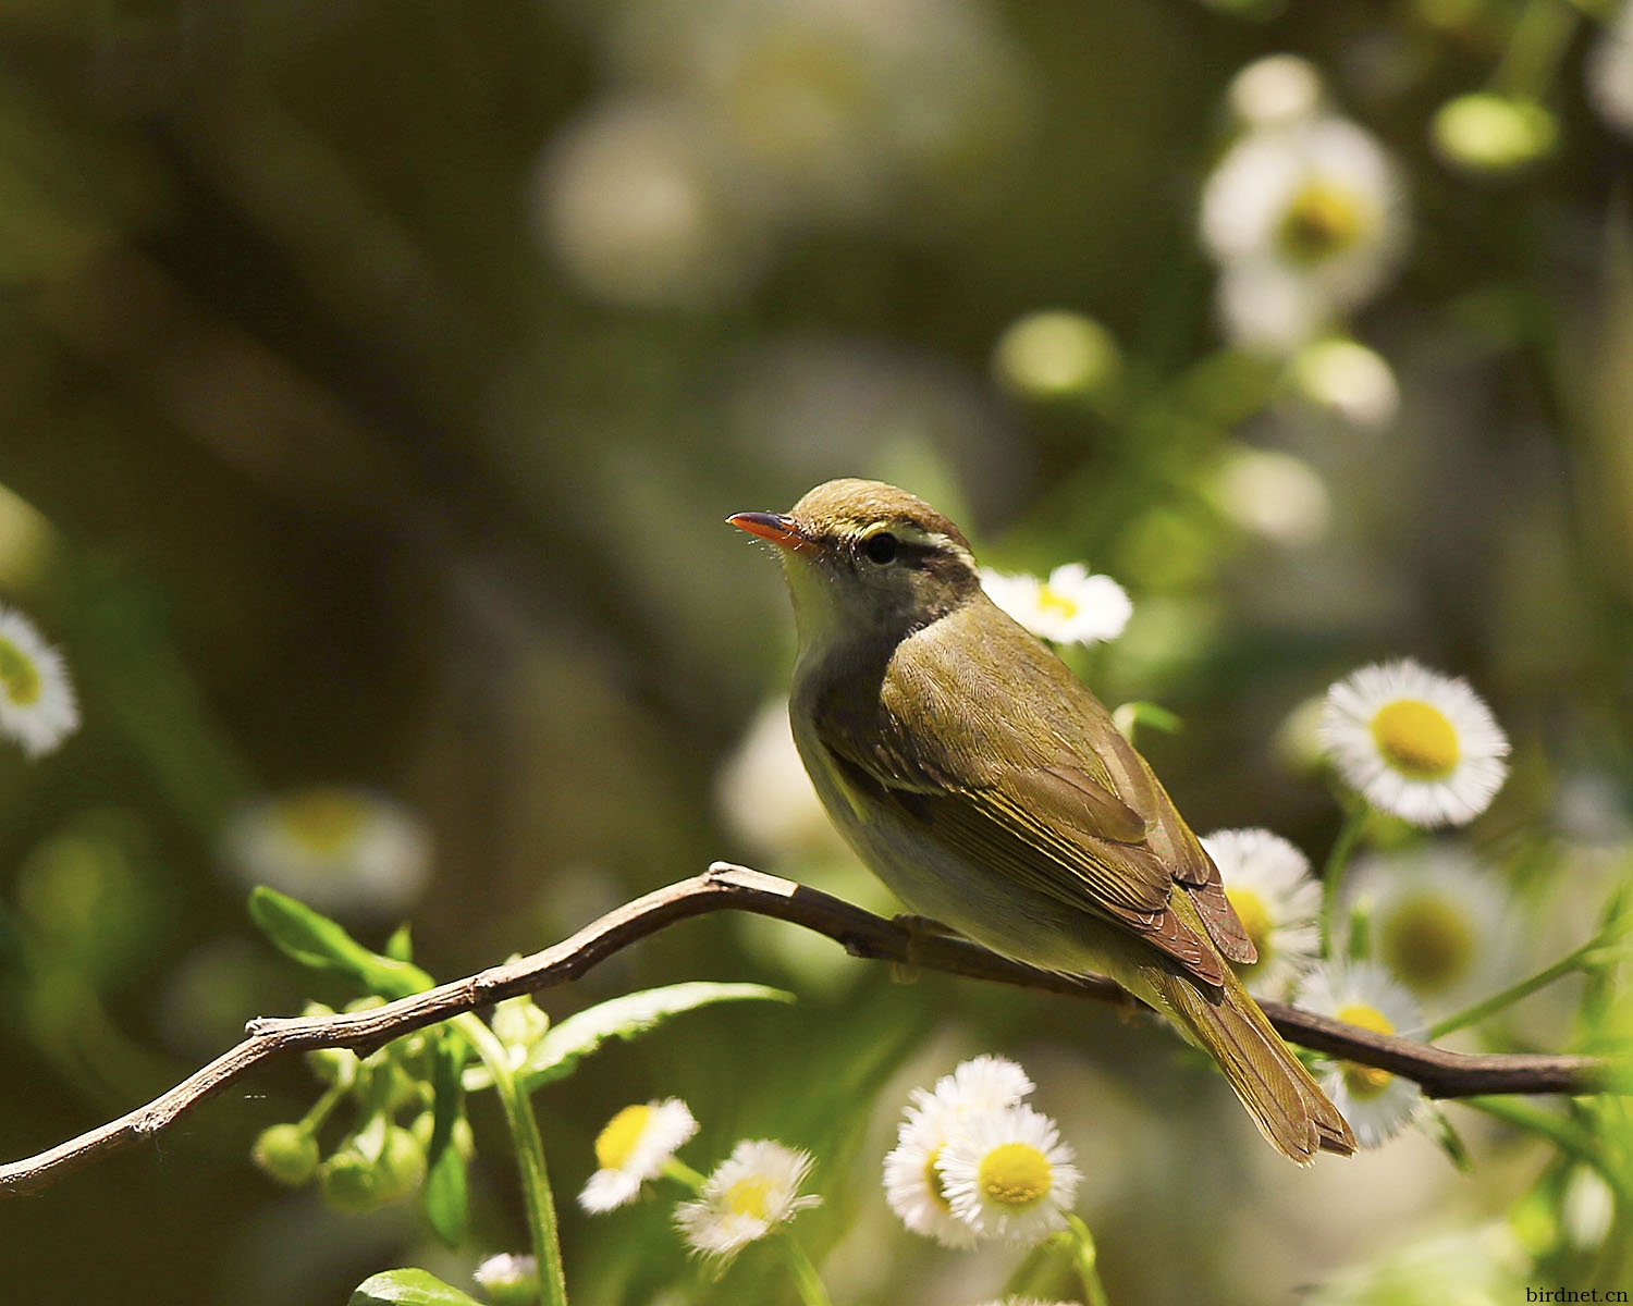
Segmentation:
{"type": "MultiPolygon", "coordinates": [[[[83,725],[0,753],[0,1153],[349,996],[256,937],[256,882],[371,945],[412,919],[439,978],[720,857],[893,911],[812,808],[777,568],[723,524],[834,475],[1119,580],[1078,666],[1182,718],[1141,746],[1199,831],[1319,864],[1302,705],[1378,656],[1468,676],[1515,743],[1471,842],[1546,868],[1514,973],[1571,947],[1633,837],[1630,39],[1586,0],[5,0],[0,596],[83,725]]],[[[541,1002],[678,980],[800,1001],[539,1094],[586,1303],[784,1299],[763,1249],[687,1278],[668,1202],[573,1205],[607,1115],[670,1094],[702,1169],[816,1153],[852,1303],[1014,1265],[879,1188],[908,1089],[977,1051],[1039,1081],[1122,1306],[1466,1242],[1543,1164],[1465,1115],[1471,1175],[1417,1135],[1298,1172],[1159,1030],[764,921],[541,1002]]],[[[269,1069],[0,1203],[7,1299],[338,1303],[518,1249],[492,1104],[449,1254],[250,1166],[315,1094],[269,1069]]]]}

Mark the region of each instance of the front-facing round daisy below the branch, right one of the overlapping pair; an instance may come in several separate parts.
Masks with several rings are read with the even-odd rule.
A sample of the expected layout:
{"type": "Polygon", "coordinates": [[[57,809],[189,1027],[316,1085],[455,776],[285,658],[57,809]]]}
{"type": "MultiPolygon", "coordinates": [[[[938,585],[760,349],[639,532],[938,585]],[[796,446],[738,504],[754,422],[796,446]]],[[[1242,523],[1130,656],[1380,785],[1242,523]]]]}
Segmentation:
{"type": "Polygon", "coordinates": [[[1083,1177],[1071,1162],[1053,1120],[1009,1107],[963,1122],[936,1169],[954,1216],[980,1237],[1037,1242],[1066,1226],[1083,1177]]]}

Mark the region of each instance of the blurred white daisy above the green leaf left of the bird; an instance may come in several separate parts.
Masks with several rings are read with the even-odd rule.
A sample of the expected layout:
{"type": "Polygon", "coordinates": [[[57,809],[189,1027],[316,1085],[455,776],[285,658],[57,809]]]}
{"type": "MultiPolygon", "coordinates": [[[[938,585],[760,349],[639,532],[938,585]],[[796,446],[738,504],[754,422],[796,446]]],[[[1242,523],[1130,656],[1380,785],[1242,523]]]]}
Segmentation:
{"type": "Polygon", "coordinates": [[[394,916],[431,878],[431,836],[420,820],[353,785],[310,785],[248,803],[224,846],[238,878],[327,913],[394,916]]]}

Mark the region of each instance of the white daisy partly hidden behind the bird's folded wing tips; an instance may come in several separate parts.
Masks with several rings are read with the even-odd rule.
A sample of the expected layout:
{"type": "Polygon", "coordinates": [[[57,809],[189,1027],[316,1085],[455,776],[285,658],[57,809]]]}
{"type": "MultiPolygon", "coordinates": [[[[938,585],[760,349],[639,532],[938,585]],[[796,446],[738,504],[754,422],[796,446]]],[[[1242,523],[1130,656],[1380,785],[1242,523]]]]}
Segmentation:
{"type": "Polygon", "coordinates": [[[1267,829],[1218,829],[1202,837],[1202,847],[1259,950],[1259,960],[1236,973],[1254,997],[1285,999],[1321,957],[1321,885],[1310,860],[1267,829]]]}

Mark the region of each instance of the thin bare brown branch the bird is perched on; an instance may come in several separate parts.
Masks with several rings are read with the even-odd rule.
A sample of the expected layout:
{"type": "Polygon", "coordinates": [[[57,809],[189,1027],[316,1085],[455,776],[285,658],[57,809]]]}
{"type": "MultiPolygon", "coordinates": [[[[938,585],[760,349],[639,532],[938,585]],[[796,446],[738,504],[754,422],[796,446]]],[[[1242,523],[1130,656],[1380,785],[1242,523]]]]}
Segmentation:
{"type": "MultiPolygon", "coordinates": [[[[36,1192],[70,1171],[157,1135],[263,1061],[312,1048],[351,1048],[367,1055],[394,1038],[451,1015],[570,983],[630,944],[676,921],[712,911],[750,911],[789,921],[833,939],[852,957],[900,962],[949,975],[1092,997],[1128,1007],[1141,1006],[1138,999],[1102,976],[1066,976],[1034,970],[965,939],[926,935],[901,921],[887,921],[792,880],[715,862],[704,875],[625,903],[554,947],[412,997],[336,1015],[258,1017],[248,1024],[248,1037],[242,1043],[145,1107],[38,1156],[0,1166],[0,1195],[36,1192]]],[[[1431,1097],[1589,1094],[1605,1091],[1609,1082],[1610,1063],[1595,1056],[1476,1056],[1411,1038],[1373,1033],[1282,1002],[1262,1006],[1285,1038],[1413,1079],[1431,1097]]]]}

